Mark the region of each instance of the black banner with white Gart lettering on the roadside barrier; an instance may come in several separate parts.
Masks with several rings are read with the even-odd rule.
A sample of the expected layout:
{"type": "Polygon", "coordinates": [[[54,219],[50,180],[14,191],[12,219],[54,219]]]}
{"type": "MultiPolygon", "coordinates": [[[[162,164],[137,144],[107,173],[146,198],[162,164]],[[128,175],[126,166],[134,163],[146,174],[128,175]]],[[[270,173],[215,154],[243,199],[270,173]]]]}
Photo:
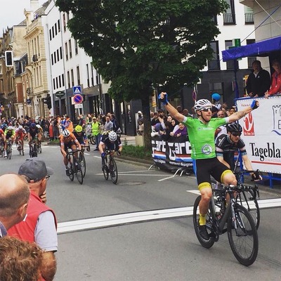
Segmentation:
{"type": "Polygon", "coordinates": [[[190,142],[187,137],[171,137],[168,141],[159,136],[152,138],[152,158],[160,169],[192,169],[190,142]]]}

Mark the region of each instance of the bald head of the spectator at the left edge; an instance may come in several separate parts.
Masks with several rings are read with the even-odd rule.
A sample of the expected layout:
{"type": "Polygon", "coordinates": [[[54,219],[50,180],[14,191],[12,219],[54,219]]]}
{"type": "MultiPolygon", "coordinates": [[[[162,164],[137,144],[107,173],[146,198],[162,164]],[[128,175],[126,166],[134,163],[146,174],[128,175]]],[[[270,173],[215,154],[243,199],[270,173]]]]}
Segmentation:
{"type": "Polygon", "coordinates": [[[0,176],[0,238],[27,214],[30,189],[25,178],[17,174],[0,176]]]}

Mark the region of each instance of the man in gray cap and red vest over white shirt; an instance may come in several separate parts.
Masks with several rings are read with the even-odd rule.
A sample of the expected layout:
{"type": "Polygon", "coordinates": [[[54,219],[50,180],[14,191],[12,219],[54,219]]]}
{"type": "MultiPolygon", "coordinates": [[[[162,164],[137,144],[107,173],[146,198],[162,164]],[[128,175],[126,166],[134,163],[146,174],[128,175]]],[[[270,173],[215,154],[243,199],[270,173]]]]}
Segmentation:
{"type": "Polygon", "coordinates": [[[53,169],[41,159],[27,159],[18,170],[25,176],[30,187],[30,202],[25,221],[8,230],[8,234],[21,240],[36,242],[43,253],[41,277],[53,280],[56,272],[55,251],[58,251],[57,221],[54,211],[40,198],[45,193],[48,178],[53,169]]]}

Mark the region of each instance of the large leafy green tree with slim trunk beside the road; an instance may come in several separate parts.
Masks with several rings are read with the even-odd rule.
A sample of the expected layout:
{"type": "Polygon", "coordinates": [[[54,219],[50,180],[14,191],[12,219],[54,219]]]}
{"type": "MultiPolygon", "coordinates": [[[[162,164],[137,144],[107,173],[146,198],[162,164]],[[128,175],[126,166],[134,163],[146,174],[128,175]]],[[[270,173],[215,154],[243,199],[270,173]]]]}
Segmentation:
{"type": "Polygon", "coordinates": [[[121,102],[141,99],[145,147],[150,147],[153,86],[169,91],[196,83],[213,55],[219,34],[214,17],[223,0],[56,0],[72,12],[67,23],[79,46],[93,59],[110,96],[121,102]]]}

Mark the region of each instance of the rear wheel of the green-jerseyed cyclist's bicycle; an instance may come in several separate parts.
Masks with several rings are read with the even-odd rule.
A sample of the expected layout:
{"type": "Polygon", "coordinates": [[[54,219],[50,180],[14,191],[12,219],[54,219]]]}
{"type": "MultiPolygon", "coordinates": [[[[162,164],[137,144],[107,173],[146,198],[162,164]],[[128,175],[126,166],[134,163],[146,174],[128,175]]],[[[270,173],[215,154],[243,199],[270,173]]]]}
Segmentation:
{"type": "MultiPolygon", "coordinates": [[[[193,226],[195,229],[195,233],[197,236],[197,239],[199,240],[200,244],[204,248],[211,248],[214,245],[214,239],[210,238],[209,240],[204,240],[204,238],[201,237],[199,233],[199,202],[201,200],[201,195],[198,196],[195,200],[194,207],[193,207],[193,226]]],[[[208,210],[207,216],[206,216],[206,226],[207,226],[207,232],[210,234],[213,232],[213,218],[211,217],[211,211],[208,210]]]]}

